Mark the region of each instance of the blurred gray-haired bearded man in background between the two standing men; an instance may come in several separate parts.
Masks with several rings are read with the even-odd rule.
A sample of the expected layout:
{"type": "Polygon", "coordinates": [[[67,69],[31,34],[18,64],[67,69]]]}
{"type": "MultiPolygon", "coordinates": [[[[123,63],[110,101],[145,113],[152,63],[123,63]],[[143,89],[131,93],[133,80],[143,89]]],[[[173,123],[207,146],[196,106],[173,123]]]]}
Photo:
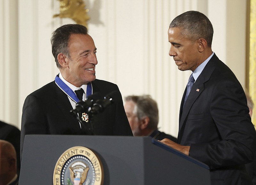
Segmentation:
{"type": "Polygon", "coordinates": [[[177,142],[175,137],[158,131],[158,107],[150,95],[125,97],[124,110],[134,136],[150,136],[156,140],[168,138],[177,142]]]}

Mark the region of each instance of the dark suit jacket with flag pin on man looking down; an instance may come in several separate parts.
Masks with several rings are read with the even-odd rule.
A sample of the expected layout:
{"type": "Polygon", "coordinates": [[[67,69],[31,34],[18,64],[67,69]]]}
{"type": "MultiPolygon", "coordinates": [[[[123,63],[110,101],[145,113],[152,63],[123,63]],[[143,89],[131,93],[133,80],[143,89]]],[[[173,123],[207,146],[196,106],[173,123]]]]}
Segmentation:
{"type": "Polygon", "coordinates": [[[178,143],[211,169],[212,184],[251,184],[244,164],[253,160],[256,134],[244,90],[214,54],[180,106],[178,143]]]}

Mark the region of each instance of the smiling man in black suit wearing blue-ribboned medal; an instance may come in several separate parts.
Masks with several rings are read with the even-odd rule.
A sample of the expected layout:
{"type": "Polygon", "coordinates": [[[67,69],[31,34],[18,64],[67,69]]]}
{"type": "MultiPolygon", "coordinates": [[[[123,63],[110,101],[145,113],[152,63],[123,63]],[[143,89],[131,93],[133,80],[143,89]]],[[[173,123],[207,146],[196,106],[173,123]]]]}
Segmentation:
{"type": "Polygon", "coordinates": [[[68,24],[52,34],[52,54],[60,73],[53,82],[27,96],[21,119],[21,154],[25,135],[122,135],[132,136],[116,84],[96,79],[96,47],[83,25],[68,24]],[[77,93],[78,91],[78,93],[77,93]],[[70,114],[79,100],[94,93],[98,99],[112,94],[114,103],[94,116],[84,110],[79,120],[70,114]],[[79,92],[81,92],[79,96],[79,92]]]}

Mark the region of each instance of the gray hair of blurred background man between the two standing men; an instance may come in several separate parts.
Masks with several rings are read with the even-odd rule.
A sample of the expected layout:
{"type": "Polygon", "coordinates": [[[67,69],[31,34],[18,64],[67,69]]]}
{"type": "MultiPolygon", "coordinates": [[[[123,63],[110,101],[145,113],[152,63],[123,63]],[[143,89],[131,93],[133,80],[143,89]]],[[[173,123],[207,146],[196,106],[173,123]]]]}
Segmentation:
{"type": "Polygon", "coordinates": [[[125,101],[134,102],[137,106],[138,119],[140,120],[145,116],[149,117],[148,128],[157,129],[159,121],[158,107],[156,101],[150,95],[126,96],[125,101]]]}

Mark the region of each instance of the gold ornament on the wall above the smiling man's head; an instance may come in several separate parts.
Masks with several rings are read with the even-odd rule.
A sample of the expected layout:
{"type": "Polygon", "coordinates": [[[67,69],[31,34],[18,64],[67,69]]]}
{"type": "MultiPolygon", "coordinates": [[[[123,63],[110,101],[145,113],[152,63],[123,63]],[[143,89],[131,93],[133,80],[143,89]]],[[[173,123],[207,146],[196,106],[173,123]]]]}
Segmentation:
{"type": "Polygon", "coordinates": [[[60,13],[53,15],[53,17],[71,18],[76,24],[87,27],[87,21],[90,17],[87,15],[89,9],[85,9],[83,0],[59,0],[60,13]]]}

